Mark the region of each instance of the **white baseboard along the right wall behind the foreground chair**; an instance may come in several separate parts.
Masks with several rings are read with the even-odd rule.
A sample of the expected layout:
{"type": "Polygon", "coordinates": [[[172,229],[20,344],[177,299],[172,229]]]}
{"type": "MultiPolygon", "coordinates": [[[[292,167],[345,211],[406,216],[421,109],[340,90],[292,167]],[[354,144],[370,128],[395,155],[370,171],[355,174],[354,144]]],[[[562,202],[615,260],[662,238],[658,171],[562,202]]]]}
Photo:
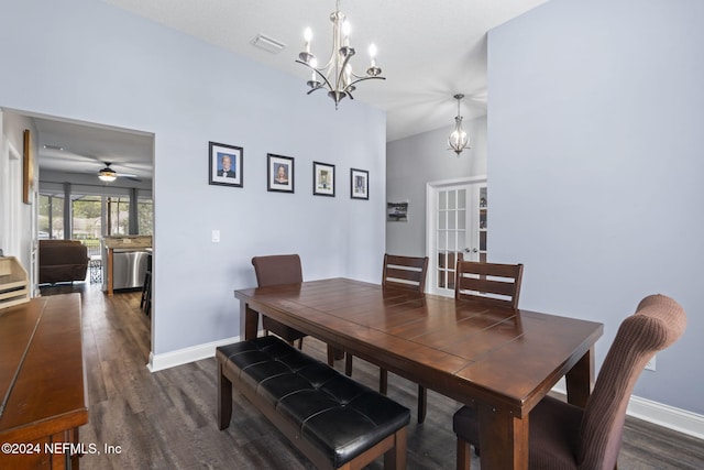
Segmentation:
{"type": "MultiPolygon", "coordinates": [[[[566,394],[564,379],[552,389],[553,392],[566,394]]],[[[697,439],[704,439],[704,415],[675,408],[651,400],[631,396],[626,409],[628,416],[686,434],[697,439]]]]}

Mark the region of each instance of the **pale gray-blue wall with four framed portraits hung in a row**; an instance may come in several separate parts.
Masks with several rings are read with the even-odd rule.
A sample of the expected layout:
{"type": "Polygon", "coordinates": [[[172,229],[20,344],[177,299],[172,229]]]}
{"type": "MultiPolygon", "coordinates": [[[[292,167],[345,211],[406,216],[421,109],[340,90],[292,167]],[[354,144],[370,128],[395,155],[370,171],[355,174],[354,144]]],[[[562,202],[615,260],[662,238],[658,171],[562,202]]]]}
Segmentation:
{"type": "Polygon", "coordinates": [[[255,284],[256,254],[380,281],[383,111],[336,111],[302,79],[103,2],[6,1],[0,18],[0,107],[155,135],[154,353],[239,335],[232,292],[255,284]],[[208,185],[208,141],[244,147],[243,188],[208,185]],[[266,190],[267,153],[296,159],[295,194],[266,190]],[[312,161],[337,165],[334,198],[312,196],[312,161]],[[350,167],[370,171],[369,201],[350,199],[350,167]]]}

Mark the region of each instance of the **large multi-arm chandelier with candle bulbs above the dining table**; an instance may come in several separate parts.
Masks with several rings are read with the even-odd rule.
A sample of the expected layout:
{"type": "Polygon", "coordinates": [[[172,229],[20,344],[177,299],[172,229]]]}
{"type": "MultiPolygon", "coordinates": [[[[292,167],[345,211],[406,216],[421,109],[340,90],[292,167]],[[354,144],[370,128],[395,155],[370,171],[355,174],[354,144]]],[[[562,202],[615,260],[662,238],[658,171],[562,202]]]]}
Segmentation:
{"type": "Polygon", "coordinates": [[[337,2],[336,11],[330,13],[330,21],[332,21],[332,53],[328,63],[318,67],[316,56],[310,53],[312,39],[310,28],[306,28],[304,32],[306,50],[298,54],[296,62],[310,68],[310,80],[308,80],[310,90],[307,95],[319,89],[327,89],[328,96],[334,101],[334,109],[338,109],[338,103],[344,97],[349,96],[350,99],[354,99],[352,92],[356,89],[355,84],[372,78],[382,80],[386,78],[381,76],[382,69],[376,66],[376,46],[374,44],[371,44],[369,48],[371,64],[366,69],[366,75],[360,76],[352,72],[350,59],[354,56],[355,51],[350,46],[350,23],[345,20],[344,13],[340,11],[340,0],[337,2]]]}

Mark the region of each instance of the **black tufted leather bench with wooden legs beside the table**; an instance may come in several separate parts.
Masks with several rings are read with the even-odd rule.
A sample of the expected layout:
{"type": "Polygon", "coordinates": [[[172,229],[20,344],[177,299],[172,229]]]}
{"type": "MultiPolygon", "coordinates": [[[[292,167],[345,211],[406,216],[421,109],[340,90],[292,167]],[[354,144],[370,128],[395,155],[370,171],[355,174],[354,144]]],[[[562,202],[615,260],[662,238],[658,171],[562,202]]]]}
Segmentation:
{"type": "Polygon", "coordinates": [[[319,469],[361,469],[384,455],[406,468],[408,408],[274,336],[216,350],[218,423],[230,425],[232,385],[319,469]]]}

